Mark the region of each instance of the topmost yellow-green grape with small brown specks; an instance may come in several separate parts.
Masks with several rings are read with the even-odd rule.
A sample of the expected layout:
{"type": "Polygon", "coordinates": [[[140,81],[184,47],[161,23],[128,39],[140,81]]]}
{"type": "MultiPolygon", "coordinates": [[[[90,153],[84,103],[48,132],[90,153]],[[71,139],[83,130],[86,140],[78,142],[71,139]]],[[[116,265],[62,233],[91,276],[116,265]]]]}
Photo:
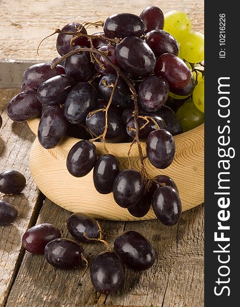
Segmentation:
{"type": "Polygon", "coordinates": [[[192,29],[188,15],[181,11],[170,11],[164,15],[164,31],[170,33],[180,42],[192,29]]]}

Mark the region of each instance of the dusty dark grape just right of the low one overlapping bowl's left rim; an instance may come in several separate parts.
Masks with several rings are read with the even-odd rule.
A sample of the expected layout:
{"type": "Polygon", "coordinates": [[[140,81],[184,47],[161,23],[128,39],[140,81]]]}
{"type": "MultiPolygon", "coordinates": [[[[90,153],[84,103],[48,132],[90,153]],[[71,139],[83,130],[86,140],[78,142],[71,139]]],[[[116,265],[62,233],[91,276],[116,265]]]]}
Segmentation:
{"type": "Polygon", "coordinates": [[[89,83],[78,83],[69,93],[64,116],[73,124],[85,123],[86,116],[97,106],[97,92],[89,83]]]}

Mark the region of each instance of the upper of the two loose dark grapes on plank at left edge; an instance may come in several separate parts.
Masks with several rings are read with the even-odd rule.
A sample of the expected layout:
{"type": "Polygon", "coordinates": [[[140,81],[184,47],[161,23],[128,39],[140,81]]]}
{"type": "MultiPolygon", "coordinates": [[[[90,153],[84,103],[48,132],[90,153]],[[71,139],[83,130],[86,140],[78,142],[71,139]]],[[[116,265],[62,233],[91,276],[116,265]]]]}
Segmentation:
{"type": "Polygon", "coordinates": [[[26,185],[26,178],[17,170],[5,170],[0,173],[0,192],[4,194],[20,194],[26,185]]]}

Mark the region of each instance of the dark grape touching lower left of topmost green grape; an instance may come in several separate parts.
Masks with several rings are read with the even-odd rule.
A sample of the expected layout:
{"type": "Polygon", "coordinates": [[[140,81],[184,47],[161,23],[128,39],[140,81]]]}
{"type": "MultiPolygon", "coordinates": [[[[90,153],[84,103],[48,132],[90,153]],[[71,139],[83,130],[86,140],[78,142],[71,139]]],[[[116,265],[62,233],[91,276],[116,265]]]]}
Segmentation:
{"type": "Polygon", "coordinates": [[[146,43],[158,58],[164,53],[179,54],[179,44],[169,33],[163,30],[153,30],[146,34],[146,43]]]}

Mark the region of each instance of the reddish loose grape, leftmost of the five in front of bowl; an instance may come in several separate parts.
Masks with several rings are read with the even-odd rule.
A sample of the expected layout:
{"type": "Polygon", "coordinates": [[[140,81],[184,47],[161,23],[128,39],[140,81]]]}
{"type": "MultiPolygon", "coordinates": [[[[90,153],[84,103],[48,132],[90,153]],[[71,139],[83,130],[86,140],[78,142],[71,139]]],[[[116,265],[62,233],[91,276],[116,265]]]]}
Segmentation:
{"type": "Polygon", "coordinates": [[[23,247],[31,254],[43,254],[46,245],[61,237],[60,230],[52,224],[38,224],[29,228],[21,240],[23,247]]]}

